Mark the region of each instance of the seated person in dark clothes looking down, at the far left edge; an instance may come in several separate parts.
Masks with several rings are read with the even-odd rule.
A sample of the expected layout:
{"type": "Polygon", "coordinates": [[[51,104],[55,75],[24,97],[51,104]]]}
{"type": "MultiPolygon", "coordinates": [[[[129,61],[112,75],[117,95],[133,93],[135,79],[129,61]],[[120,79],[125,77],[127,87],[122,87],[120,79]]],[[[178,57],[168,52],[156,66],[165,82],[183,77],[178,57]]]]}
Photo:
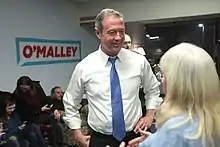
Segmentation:
{"type": "MultiPolygon", "coordinates": [[[[2,95],[1,95],[2,96],[2,95]]],[[[5,92],[0,101],[0,119],[2,147],[39,147],[30,126],[22,122],[15,110],[15,101],[11,99],[11,93],[5,92]]]]}

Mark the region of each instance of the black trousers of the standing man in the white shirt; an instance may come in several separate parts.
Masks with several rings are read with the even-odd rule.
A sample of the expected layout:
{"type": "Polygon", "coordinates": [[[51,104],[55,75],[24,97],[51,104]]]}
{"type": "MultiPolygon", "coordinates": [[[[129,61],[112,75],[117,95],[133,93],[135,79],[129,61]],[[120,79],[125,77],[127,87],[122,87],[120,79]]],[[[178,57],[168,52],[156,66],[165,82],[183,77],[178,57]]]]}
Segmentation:
{"type": "MultiPolygon", "coordinates": [[[[139,136],[140,134],[135,134],[131,131],[126,133],[123,141],[128,143],[130,140],[139,136]]],[[[110,147],[118,147],[121,142],[122,141],[116,140],[112,135],[105,135],[92,130],[89,147],[106,147],[106,145],[109,145],[110,147]]]]}

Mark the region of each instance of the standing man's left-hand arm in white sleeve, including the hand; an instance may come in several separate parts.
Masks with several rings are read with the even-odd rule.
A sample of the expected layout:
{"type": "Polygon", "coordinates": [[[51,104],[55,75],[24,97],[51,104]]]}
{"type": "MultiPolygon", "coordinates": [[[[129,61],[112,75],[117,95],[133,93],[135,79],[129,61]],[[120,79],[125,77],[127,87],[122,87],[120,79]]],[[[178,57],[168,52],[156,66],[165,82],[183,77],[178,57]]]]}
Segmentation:
{"type": "Polygon", "coordinates": [[[79,106],[84,94],[84,82],[82,79],[82,64],[77,64],[73,71],[69,86],[63,96],[65,110],[64,121],[70,129],[74,130],[73,138],[82,147],[88,146],[90,137],[83,135],[81,131],[81,119],[79,106]]]}

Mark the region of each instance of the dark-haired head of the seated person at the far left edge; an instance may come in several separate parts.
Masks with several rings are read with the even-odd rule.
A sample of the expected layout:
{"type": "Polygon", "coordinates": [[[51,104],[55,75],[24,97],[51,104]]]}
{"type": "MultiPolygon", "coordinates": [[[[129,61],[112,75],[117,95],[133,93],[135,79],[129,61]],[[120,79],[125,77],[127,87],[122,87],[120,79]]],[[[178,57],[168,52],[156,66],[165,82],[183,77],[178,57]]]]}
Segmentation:
{"type": "Polygon", "coordinates": [[[11,115],[15,111],[15,100],[12,98],[11,93],[5,92],[4,95],[1,96],[0,106],[1,117],[11,115]]]}

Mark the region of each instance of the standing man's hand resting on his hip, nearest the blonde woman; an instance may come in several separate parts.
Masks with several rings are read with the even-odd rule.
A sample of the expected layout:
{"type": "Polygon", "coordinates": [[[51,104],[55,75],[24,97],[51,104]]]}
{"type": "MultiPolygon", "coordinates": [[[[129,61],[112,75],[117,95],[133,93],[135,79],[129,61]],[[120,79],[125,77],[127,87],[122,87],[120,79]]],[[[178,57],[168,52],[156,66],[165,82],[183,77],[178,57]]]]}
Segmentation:
{"type": "Polygon", "coordinates": [[[151,127],[153,120],[154,120],[154,110],[147,110],[147,114],[144,117],[140,118],[140,120],[136,124],[134,128],[134,132],[138,133],[139,129],[146,131],[148,128],[151,127]]]}

